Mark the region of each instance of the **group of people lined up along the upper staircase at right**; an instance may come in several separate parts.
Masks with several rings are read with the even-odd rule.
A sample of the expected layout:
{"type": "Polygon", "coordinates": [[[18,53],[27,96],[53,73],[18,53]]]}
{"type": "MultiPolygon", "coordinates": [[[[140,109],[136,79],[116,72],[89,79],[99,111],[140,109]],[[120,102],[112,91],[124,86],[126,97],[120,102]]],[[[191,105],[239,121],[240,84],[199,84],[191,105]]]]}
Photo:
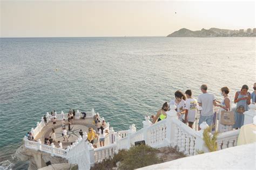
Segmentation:
{"type": "MultiPolygon", "coordinates": [[[[170,110],[170,105],[176,105],[177,116],[183,123],[193,127],[196,121],[197,111],[200,110],[200,125],[206,122],[209,126],[213,124],[213,114],[214,107],[220,107],[217,119],[220,119],[221,111],[232,111],[232,100],[228,96],[230,89],[228,87],[223,87],[220,89],[221,96],[223,96],[222,101],[218,101],[215,95],[208,93],[207,85],[203,84],[200,87],[201,93],[198,96],[198,100],[192,96],[191,90],[186,90],[185,94],[180,90],[174,93],[175,99],[171,100],[168,104],[165,102],[163,107],[158,110],[156,115],[152,115],[152,122],[159,122],[167,117],[166,112],[170,110]]],[[[237,104],[234,110],[234,125],[224,125],[220,124],[219,131],[225,132],[232,129],[239,129],[244,125],[244,112],[248,111],[248,105],[256,103],[256,83],[253,85],[252,94],[248,92],[249,88],[245,84],[241,87],[241,90],[235,93],[234,103],[237,104]]],[[[198,127],[200,130],[200,126],[198,127]]]]}

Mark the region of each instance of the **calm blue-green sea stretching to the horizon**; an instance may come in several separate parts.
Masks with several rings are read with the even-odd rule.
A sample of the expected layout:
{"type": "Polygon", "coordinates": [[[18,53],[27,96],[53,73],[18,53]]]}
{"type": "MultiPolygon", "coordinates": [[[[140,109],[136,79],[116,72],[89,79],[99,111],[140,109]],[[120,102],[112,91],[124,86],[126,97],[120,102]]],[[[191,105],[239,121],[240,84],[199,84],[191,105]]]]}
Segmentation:
{"type": "Polygon", "coordinates": [[[233,97],[255,82],[255,38],[0,40],[2,168],[27,166],[12,154],[47,111],[94,108],[116,131],[132,123],[140,129],[144,116],[156,114],[178,89],[197,97],[206,83],[221,99],[221,87],[233,97]]]}

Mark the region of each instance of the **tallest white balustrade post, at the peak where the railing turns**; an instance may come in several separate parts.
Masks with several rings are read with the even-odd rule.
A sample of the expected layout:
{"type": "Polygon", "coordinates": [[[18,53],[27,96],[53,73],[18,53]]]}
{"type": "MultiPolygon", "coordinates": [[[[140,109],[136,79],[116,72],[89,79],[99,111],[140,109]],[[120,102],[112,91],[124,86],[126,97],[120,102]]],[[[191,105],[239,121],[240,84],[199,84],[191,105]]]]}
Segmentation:
{"type": "Polygon", "coordinates": [[[167,145],[171,145],[174,147],[175,145],[175,132],[176,132],[176,125],[172,122],[172,119],[178,119],[177,112],[176,112],[176,105],[170,105],[170,111],[166,112],[166,142],[167,145]]]}

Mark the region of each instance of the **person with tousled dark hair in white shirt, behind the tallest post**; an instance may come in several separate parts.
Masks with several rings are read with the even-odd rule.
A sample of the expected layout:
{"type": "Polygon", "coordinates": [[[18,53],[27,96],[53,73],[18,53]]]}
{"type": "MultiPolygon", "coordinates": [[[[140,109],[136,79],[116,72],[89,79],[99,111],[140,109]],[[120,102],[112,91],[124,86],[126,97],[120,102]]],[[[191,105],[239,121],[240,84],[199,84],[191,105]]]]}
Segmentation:
{"type": "Polygon", "coordinates": [[[171,100],[169,103],[169,107],[170,105],[176,105],[176,111],[177,111],[177,116],[179,117],[180,121],[183,121],[185,123],[185,100],[186,100],[186,96],[180,91],[176,91],[174,93],[175,96],[175,100],[171,100]]]}

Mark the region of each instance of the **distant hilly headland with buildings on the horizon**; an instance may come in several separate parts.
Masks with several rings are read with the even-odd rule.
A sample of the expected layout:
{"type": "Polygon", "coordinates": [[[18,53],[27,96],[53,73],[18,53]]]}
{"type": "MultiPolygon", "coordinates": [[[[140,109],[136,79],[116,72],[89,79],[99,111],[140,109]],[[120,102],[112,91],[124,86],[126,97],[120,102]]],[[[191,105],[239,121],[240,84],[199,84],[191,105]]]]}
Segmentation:
{"type": "Polygon", "coordinates": [[[169,34],[167,37],[256,37],[256,29],[225,30],[211,28],[191,31],[184,28],[169,34]]]}

